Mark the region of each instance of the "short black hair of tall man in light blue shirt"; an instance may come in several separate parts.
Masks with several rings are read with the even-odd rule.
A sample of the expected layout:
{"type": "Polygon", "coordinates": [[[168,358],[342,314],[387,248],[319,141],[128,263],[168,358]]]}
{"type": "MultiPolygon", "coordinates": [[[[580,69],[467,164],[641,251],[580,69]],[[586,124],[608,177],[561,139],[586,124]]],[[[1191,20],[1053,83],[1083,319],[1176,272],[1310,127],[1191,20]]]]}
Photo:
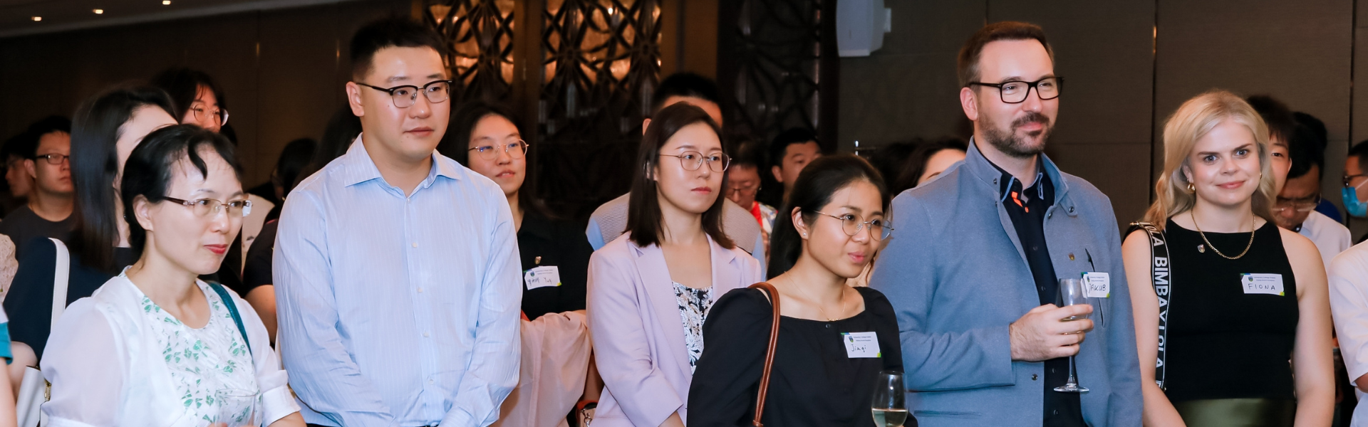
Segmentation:
{"type": "Polygon", "coordinates": [[[371,22],[352,36],[352,78],[371,73],[375,53],[386,48],[431,48],[446,56],[446,44],[432,29],[413,19],[393,16],[371,22]]]}

